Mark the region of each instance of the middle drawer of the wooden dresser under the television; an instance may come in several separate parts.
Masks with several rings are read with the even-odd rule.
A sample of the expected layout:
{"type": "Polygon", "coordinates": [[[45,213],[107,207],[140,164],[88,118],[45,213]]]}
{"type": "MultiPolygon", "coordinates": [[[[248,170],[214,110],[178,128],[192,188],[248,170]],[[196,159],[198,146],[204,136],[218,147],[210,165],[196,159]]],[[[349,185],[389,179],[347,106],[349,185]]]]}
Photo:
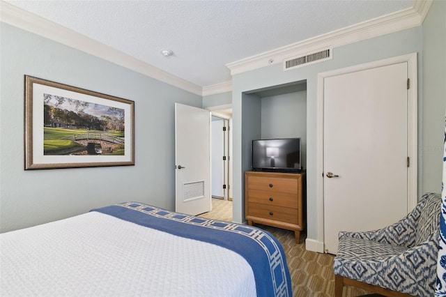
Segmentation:
{"type": "Polygon", "coordinates": [[[272,206],[285,206],[298,208],[298,197],[295,194],[286,192],[274,192],[264,190],[249,190],[248,202],[268,204],[272,206]]]}

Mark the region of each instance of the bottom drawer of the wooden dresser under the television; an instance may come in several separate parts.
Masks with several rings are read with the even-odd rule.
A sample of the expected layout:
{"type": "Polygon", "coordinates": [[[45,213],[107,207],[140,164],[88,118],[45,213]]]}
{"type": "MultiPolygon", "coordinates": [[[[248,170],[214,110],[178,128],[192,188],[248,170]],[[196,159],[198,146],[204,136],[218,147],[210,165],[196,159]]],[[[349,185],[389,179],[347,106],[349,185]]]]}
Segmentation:
{"type": "Polygon", "coordinates": [[[299,213],[295,208],[272,206],[259,203],[248,203],[249,216],[287,222],[290,224],[299,223],[299,213]]]}

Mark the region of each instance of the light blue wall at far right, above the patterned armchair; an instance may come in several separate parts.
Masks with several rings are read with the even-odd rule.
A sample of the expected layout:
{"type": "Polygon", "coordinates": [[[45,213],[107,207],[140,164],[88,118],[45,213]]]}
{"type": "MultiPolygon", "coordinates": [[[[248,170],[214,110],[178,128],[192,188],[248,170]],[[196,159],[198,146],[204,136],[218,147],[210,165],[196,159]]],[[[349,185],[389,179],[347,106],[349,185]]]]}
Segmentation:
{"type": "Polygon", "coordinates": [[[424,192],[439,192],[446,111],[446,1],[433,1],[424,20],[423,50],[422,185],[424,192]]]}

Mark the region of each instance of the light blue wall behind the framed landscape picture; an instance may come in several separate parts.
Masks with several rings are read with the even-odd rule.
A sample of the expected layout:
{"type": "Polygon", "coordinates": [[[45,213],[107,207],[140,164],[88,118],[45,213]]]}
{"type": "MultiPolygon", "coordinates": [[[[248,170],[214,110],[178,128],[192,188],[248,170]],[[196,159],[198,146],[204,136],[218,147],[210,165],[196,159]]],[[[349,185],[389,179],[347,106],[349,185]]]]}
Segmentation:
{"type": "Polygon", "coordinates": [[[121,201],[174,209],[174,102],[201,96],[1,23],[1,231],[121,201]],[[24,75],[135,102],[135,166],[24,171],[24,75]]]}

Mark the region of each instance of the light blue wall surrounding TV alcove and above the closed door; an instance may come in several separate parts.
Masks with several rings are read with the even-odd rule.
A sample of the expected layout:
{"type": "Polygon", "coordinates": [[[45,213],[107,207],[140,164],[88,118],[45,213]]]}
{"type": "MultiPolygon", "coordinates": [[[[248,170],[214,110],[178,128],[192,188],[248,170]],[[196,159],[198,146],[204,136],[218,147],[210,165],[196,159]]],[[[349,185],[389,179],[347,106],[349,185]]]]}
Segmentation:
{"type": "MultiPolygon", "coordinates": [[[[246,94],[252,90],[268,88],[280,84],[307,80],[307,238],[316,241],[318,234],[318,201],[316,197],[316,181],[320,178],[316,168],[316,98],[317,75],[328,70],[354,66],[361,63],[377,61],[392,56],[400,56],[417,52],[419,73],[422,75],[422,27],[416,27],[397,33],[371,38],[351,45],[336,47],[333,59],[313,65],[283,71],[282,64],[259,68],[233,76],[233,220],[244,220],[244,185],[243,174],[249,170],[249,139],[258,137],[247,123],[245,114],[256,120],[250,105],[245,104],[246,94]],[[248,128],[245,127],[248,125],[248,128]]],[[[420,83],[420,82],[419,82],[420,83]]],[[[422,93],[418,96],[421,104],[422,93]]],[[[440,180],[441,176],[438,176],[440,180]]]]}

